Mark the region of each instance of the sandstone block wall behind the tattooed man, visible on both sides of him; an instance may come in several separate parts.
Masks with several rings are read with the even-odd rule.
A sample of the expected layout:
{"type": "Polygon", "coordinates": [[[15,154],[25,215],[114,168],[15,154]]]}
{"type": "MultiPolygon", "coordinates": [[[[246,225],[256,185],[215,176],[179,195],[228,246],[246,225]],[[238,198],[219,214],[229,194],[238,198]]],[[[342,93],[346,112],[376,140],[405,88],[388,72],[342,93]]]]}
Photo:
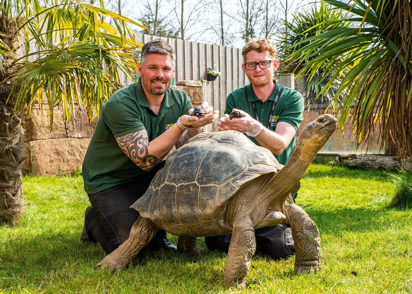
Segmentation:
{"type": "MultiPolygon", "coordinates": [[[[194,106],[204,102],[200,81],[180,81],[174,88],[181,90],[192,100],[194,106]]],[[[45,101],[45,100],[44,100],[45,101]]],[[[78,109],[77,105],[75,108],[78,109]]],[[[81,169],[84,154],[94,132],[97,119],[89,120],[83,111],[75,112],[75,125],[65,124],[61,107],[54,108],[53,129],[50,132],[49,106],[36,104],[25,123],[26,161],[22,165],[25,174],[54,175],[71,174],[81,169]]]]}

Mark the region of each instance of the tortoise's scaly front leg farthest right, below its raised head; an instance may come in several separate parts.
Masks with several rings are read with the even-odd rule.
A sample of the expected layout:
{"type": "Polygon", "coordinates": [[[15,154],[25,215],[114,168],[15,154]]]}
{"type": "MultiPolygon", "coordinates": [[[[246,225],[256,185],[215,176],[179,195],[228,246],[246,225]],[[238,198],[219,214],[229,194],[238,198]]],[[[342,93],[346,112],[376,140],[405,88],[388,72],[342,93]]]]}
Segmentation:
{"type": "Polygon", "coordinates": [[[321,269],[321,238],[318,227],[296,204],[290,204],[285,208],[295,242],[295,271],[319,271],[321,269]]]}

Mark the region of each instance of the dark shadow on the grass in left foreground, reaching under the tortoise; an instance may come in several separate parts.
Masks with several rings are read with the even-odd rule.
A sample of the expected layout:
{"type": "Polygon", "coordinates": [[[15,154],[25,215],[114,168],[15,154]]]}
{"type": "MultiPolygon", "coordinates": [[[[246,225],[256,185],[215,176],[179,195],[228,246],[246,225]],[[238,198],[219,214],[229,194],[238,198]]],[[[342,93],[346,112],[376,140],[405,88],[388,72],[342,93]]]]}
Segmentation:
{"type": "MultiPolygon", "coordinates": [[[[177,252],[146,252],[138,255],[128,269],[115,273],[96,269],[94,266],[105,257],[99,245],[81,243],[78,233],[47,232],[35,236],[16,236],[3,242],[0,256],[0,288],[15,288],[18,285],[45,287],[60,280],[128,279],[131,276],[155,280],[176,280],[176,276],[194,277],[202,280],[205,272],[210,281],[205,285],[223,285],[223,267],[211,266],[219,255],[204,250],[200,257],[177,252]],[[71,276],[70,276],[71,275],[71,276]],[[144,277],[143,277],[144,276],[144,277]],[[219,282],[220,281],[220,282],[219,282]]],[[[217,261],[220,262],[220,261],[217,261]]],[[[197,281],[199,282],[199,281],[197,281]]]]}

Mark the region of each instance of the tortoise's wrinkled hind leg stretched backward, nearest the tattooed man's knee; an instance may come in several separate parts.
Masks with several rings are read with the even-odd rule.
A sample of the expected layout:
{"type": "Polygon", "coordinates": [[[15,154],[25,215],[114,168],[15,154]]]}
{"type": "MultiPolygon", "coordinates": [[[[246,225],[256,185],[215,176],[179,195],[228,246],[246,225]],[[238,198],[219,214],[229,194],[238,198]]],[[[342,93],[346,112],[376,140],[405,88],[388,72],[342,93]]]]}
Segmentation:
{"type": "Polygon", "coordinates": [[[129,238],[96,264],[96,267],[107,267],[110,270],[124,268],[152,240],[159,229],[150,219],[139,216],[131,227],[129,238]]]}

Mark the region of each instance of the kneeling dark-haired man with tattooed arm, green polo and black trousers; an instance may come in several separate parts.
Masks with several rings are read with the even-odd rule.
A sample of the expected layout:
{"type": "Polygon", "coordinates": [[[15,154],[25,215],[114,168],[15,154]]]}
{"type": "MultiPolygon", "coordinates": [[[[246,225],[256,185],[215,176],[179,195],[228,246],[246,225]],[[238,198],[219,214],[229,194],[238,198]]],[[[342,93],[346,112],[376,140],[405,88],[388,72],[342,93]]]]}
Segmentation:
{"type": "MultiPolygon", "coordinates": [[[[129,238],[138,211],[129,208],[147,190],[162,159],[203,126],[218,110],[204,104],[205,116],[190,116],[190,98],[170,88],[175,54],[169,44],[154,39],[142,48],[135,83],[116,91],[102,108],[82,167],[84,190],[91,206],[84,215],[80,239],[99,243],[110,253],[129,238]]],[[[149,250],[176,250],[157,232],[149,250]]]]}

